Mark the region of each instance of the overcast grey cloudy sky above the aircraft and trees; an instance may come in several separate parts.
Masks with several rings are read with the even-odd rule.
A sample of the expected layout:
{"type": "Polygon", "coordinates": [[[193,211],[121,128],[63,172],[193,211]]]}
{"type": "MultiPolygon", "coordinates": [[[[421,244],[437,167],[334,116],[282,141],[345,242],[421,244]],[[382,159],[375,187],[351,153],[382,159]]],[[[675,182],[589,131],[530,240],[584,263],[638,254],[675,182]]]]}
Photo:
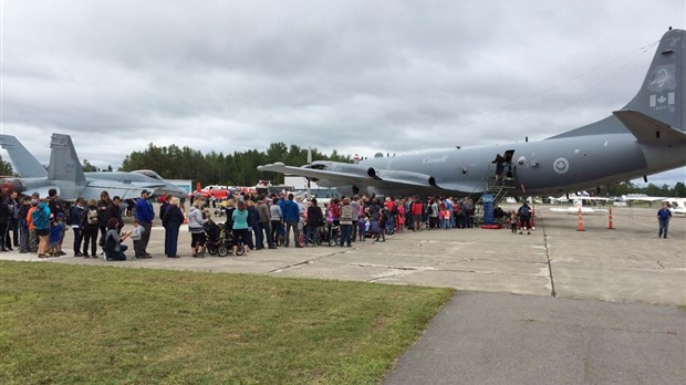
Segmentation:
{"type": "Polygon", "coordinates": [[[373,156],[543,139],[623,107],[654,43],[686,28],[684,0],[1,3],[2,133],[44,164],[50,134],[70,134],[115,169],[148,143],[373,156]]]}

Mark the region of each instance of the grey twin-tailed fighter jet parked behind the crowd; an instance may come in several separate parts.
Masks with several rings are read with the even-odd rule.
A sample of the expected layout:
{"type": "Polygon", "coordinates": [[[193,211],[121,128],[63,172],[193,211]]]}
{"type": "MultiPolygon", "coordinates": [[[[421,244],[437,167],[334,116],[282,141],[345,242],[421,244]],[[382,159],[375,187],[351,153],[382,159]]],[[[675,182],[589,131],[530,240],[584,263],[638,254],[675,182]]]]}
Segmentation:
{"type": "Polygon", "coordinates": [[[180,187],[163,179],[152,170],[132,173],[83,173],[79,156],[69,135],[52,134],[50,143],[50,165],[43,167],[29,150],[11,135],[0,135],[0,146],[7,149],[19,178],[0,179],[0,189],[6,192],[39,192],[48,196],[54,188],[61,200],[72,202],[83,197],[100,199],[100,194],[107,190],[111,197],[119,196],[122,200],[138,198],[145,189],[154,195],[173,195],[186,197],[180,187]]]}

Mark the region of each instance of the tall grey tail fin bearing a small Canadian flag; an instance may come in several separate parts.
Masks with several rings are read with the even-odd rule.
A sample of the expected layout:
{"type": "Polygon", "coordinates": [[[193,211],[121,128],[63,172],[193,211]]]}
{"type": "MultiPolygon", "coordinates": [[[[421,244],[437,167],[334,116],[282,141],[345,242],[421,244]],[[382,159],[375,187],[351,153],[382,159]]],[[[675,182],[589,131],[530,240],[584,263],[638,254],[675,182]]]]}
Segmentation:
{"type": "Polygon", "coordinates": [[[674,128],[686,131],[685,54],[686,31],[667,31],[659,41],[641,90],[622,110],[637,111],[674,128]]]}

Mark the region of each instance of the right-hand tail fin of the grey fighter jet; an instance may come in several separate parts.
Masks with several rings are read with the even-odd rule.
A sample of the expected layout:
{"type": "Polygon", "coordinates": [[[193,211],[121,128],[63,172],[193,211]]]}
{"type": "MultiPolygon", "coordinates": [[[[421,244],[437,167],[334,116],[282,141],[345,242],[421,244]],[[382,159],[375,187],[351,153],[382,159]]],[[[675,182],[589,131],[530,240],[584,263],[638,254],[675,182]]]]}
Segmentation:
{"type": "Polygon", "coordinates": [[[85,183],[81,162],[79,162],[71,136],[52,134],[50,148],[52,152],[50,153],[50,166],[48,167],[49,180],[85,183]]]}

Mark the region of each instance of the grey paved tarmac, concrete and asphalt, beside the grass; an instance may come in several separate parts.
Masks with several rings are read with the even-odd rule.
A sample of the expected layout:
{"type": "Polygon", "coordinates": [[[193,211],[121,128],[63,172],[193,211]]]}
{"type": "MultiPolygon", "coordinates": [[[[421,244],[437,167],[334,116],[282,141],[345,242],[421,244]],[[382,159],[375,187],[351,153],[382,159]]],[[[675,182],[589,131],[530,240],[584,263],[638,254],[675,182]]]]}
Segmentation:
{"type": "MultiPolygon", "coordinates": [[[[185,227],[183,258],[165,258],[158,226],[148,247],[154,258],[125,262],[71,257],[67,231],[67,256],[41,261],[457,289],[388,384],[683,383],[686,218],[673,217],[669,239],[659,239],[656,212],[614,208],[613,230],[607,214],[584,215],[579,231],[576,215],[537,207],[531,235],[424,230],[351,248],[291,246],[205,259],[190,258],[185,227]]],[[[39,261],[17,249],[0,259],[39,261]]]]}

